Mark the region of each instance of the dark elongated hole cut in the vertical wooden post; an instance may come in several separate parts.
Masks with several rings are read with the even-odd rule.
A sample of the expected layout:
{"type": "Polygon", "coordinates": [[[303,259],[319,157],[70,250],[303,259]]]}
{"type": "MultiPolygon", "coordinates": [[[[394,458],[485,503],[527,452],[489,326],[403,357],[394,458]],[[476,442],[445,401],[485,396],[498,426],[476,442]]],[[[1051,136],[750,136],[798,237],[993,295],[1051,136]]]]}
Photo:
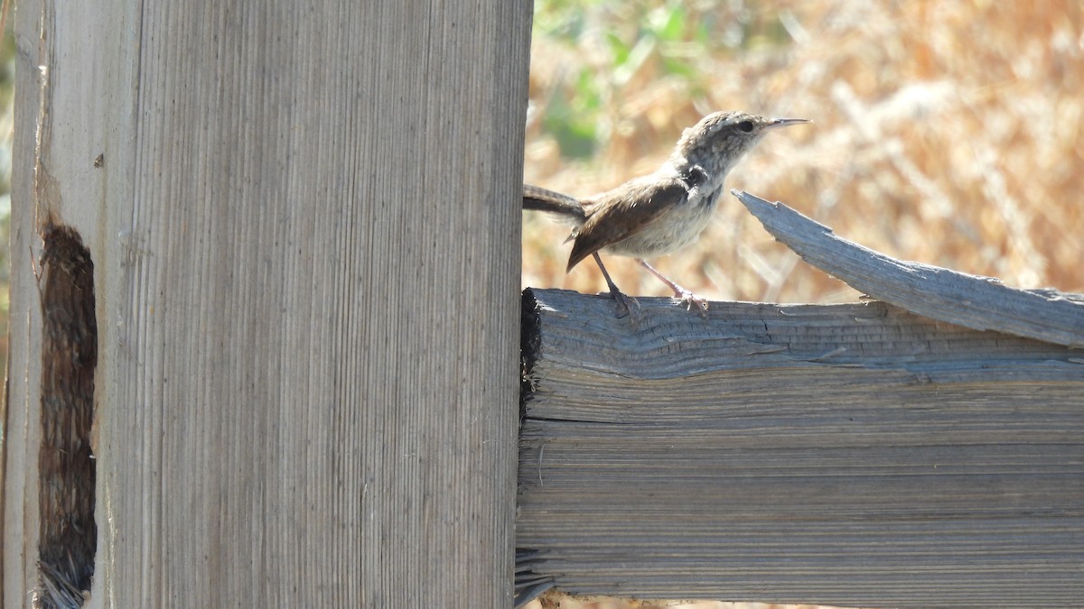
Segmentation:
{"type": "Polygon", "coordinates": [[[36,607],[80,607],[94,573],[94,263],[79,234],[50,225],[42,235],[41,529],[36,607]]]}

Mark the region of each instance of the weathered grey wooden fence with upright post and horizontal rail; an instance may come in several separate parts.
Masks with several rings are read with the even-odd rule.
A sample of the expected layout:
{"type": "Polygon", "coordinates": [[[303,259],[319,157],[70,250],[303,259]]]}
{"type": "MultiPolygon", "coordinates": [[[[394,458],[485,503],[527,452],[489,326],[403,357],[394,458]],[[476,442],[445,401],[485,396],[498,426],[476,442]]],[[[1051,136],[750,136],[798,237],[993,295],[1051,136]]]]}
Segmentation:
{"type": "Polygon", "coordinates": [[[812,224],[894,306],[520,327],[529,3],[16,17],[4,607],[1084,598],[1080,297],[812,224]]]}

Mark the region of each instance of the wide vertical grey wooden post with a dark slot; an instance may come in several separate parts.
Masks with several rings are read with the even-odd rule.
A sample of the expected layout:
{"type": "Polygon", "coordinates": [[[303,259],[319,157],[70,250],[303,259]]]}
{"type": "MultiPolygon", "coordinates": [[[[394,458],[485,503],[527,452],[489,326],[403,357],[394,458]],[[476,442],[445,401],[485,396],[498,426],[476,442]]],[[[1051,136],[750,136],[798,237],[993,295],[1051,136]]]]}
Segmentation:
{"type": "Polygon", "coordinates": [[[17,17],[4,606],[48,216],[95,270],[89,606],[507,607],[530,4],[17,17]]]}

